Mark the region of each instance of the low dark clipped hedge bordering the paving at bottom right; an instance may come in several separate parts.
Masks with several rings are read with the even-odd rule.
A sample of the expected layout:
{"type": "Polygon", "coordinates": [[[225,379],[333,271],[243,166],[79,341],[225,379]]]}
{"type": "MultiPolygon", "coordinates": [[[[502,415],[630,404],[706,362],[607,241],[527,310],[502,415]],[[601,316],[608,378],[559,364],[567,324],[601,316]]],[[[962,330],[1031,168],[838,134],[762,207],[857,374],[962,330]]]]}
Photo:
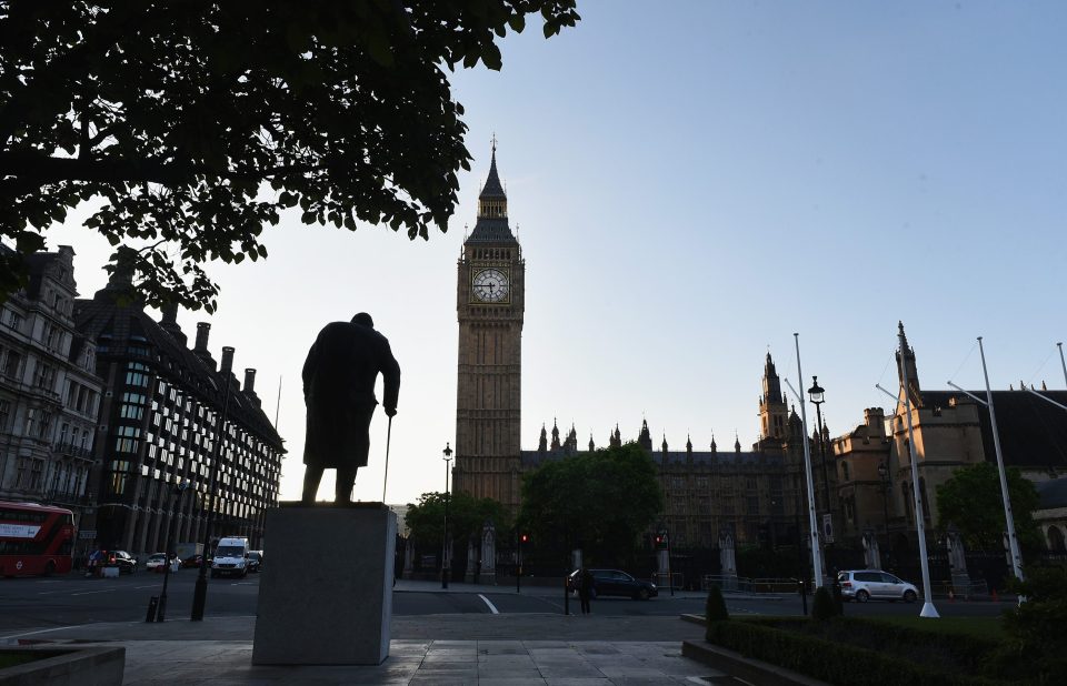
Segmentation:
{"type": "MultiPolygon", "coordinates": [[[[856,624],[871,623],[854,621],[856,624]]],[[[801,621],[808,625],[837,625],[848,630],[849,622],[845,618],[835,618],[829,622],[814,623],[801,621]]],[[[799,629],[800,623],[792,623],[799,629]]],[[[936,669],[928,665],[911,662],[899,655],[886,654],[880,646],[877,649],[861,648],[855,645],[827,640],[811,636],[800,630],[777,628],[775,624],[782,621],[732,621],[708,623],[707,638],[709,643],[736,650],[746,657],[762,659],[812,678],[831,684],[848,684],[849,686],[880,686],[908,684],[909,686],[994,686],[1007,682],[989,679],[976,675],[954,674],[945,669],[936,669]]],[[[931,635],[945,637],[940,634],[918,632],[903,627],[885,625],[889,636],[905,634],[907,640],[924,636],[927,640],[931,635]],[[907,635],[915,634],[915,635],[907,635]]],[[[858,627],[852,627],[858,628],[858,627]]],[[[881,627],[876,627],[876,632],[881,627]]],[[[889,638],[887,636],[887,638],[889,638]]],[[[955,646],[956,636],[949,636],[949,644],[955,646]]],[[[965,638],[965,640],[974,640],[965,638]]],[[[981,643],[981,642],[979,642],[981,643]]],[[[898,645],[901,645],[898,642],[898,645]]],[[[965,652],[964,663],[970,662],[971,655],[965,652]]],[[[966,666],[963,666],[966,669],[966,666]]]]}

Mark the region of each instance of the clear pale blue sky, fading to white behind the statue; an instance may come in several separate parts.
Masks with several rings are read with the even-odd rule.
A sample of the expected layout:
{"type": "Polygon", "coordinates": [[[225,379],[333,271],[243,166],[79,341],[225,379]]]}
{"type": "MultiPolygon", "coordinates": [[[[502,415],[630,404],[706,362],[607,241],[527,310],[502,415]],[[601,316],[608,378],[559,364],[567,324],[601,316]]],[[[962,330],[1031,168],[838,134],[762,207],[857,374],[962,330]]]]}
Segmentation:
{"type": "MultiPolygon", "coordinates": [[[[236,347],[289,454],[298,498],[300,369],[322,325],[375,317],[402,369],[356,497],[443,491],[456,431],[457,260],[490,140],[527,268],[522,446],[542,424],[579,445],[618,424],[654,443],[758,438],[765,355],[800,392],[817,374],[831,434],[893,406],[897,322],[924,389],[1065,387],[1067,4],[579,0],[545,40],[500,41],[503,69],[458,71],[475,158],[447,233],[411,242],[287,215],[266,261],[211,265],[209,347],[236,347]],[[798,379],[799,334],[804,380],[798,379]]],[[[82,296],[110,250],[73,212],[82,296]]],[[[785,387],[785,384],[782,384],[785,387]]],[[[379,386],[380,389],[380,386],[379,386]]],[[[380,391],[379,391],[380,396],[380,391]]],[[[794,401],[795,402],[795,401],[794,401]]],[[[799,412],[799,407],[797,408],[799,412]]],[[[812,411],[809,405],[808,412],[812,411]]],[[[809,417],[809,422],[810,422],[809,417]]],[[[327,472],[320,497],[332,497],[327,472]]]]}

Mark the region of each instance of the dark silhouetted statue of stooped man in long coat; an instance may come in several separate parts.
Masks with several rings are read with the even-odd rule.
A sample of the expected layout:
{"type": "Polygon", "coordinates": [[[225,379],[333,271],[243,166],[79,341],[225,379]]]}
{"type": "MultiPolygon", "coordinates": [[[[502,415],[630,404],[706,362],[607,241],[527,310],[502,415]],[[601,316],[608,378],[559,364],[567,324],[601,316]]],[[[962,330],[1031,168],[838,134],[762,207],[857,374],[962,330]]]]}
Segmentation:
{"type": "Polygon", "coordinates": [[[375,382],[385,383],[386,414],[397,414],[400,365],[389,341],[375,331],[375,322],[360,312],[351,322],[322,327],[303,363],[303,401],[308,407],[303,445],[305,504],[315,502],[322,472],[337,470],[337,503],[350,503],[356,471],[367,466],[370,420],[378,400],[375,382]]]}

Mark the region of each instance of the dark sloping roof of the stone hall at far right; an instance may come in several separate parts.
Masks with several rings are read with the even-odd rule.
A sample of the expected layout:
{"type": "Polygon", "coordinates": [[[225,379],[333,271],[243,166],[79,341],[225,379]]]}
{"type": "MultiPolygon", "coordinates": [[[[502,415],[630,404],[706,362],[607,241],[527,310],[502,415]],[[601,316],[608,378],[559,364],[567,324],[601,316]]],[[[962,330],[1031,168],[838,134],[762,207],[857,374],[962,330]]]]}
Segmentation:
{"type": "MultiPolygon", "coordinates": [[[[986,397],[985,391],[971,393],[983,400],[986,397]]],[[[1040,391],[1040,394],[1067,405],[1067,391],[1040,391]]],[[[923,406],[926,408],[948,407],[953,399],[960,403],[974,402],[957,391],[923,391],[923,406]]],[[[997,454],[989,408],[975,404],[986,460],[995,463],[997,454]]],[[[1067,411],[1027,391],[994,391],[993,406],[1006,465],[1067,472],[1067,411]]]]}

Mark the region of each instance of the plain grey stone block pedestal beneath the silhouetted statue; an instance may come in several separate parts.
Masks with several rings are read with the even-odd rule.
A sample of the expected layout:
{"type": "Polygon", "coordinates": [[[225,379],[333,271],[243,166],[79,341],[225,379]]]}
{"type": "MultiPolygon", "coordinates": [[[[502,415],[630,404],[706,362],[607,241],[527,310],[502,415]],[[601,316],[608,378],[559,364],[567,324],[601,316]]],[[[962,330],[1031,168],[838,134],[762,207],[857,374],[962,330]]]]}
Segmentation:
{"type": "Polygon", "coordinates": [[[380,503],[267,511],[253,665],[389,656],[397,516],[380,503]]]}

